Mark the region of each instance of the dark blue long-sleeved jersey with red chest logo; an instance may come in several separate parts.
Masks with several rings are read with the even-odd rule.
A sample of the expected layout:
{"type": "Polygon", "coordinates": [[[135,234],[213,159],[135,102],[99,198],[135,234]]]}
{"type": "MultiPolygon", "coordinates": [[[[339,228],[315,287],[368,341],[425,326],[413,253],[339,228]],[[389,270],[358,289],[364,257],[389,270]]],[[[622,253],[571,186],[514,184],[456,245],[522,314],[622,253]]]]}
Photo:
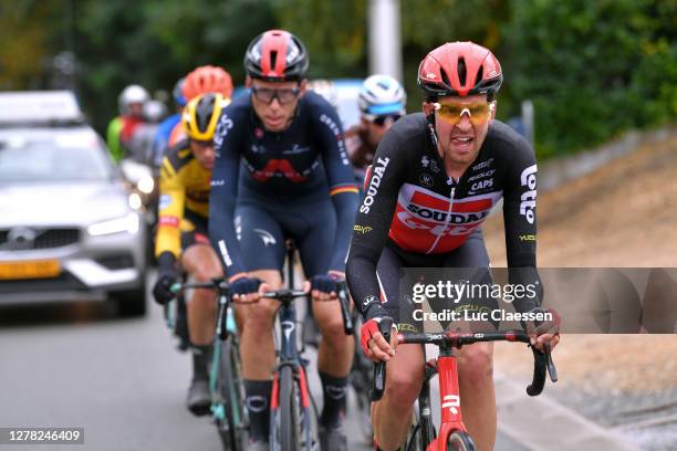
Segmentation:
{"type": "Polygon", "coordinates": [[[209,231],[228,275],[246,271],[233,228],[236,197],[278,204],[308,202],[311,208],[331,196],[336,210],[333,250],[315,251],[332,252],[330,270],[345,271],[357,188],[342,135],[334,108],[313,92],[301,97],[290,126],[281,133],[264,129],[250,96],[223,111],[215,135],[209,231]]]}

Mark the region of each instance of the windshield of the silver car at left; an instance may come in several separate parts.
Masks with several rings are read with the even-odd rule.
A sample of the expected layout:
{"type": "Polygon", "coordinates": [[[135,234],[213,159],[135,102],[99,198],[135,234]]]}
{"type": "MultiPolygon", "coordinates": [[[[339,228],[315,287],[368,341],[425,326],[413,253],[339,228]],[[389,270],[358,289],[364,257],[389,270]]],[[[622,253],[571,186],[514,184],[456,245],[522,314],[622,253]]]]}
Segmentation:
{"type": "Polygon", "coordinates": [[[0,182],[103,181],[112,168],[98,147],[67,139],[0,139],[0,182]]]}

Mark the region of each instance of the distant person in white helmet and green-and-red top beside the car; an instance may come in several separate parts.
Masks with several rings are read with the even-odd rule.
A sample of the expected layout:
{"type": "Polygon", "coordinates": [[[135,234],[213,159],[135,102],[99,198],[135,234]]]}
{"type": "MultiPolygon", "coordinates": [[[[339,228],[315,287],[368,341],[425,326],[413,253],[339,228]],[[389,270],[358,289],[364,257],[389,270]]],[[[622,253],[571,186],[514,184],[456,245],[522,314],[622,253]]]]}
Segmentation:
{"type": "Polygon", "coordinates": [[[129,85],[119,94],[119,116],[108,123],[106,130],[106,144],[116,162],[129,153],[132,135],[138,124],[144,122],[144,104],[149,99],[148,92],[139,85],[129,85]]]}

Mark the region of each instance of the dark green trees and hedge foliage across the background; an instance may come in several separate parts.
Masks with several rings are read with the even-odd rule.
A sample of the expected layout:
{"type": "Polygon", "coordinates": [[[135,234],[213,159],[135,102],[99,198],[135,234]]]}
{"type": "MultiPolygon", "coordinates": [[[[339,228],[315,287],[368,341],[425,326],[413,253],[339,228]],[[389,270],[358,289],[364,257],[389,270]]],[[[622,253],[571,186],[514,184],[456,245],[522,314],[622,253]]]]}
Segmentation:
{"type": "MultiPolygon", "coordinates": [[[[248,42],[271,28],[305,42],[311,77],[364,77],[367,9],[366,0],[0,0],[0,90],[72,86],[103,130],[127,84],[167,92],[208,63],[241,84],[248,42]],[[74,64],[55,70],[64,51],[74,64]]],[[[503,65],[499,118],[533,101],[541,157],[677,117],[677,0],[400,0],[400,11],[409,111],[420,106],[426,52],[472,40],[503,65]]]]}

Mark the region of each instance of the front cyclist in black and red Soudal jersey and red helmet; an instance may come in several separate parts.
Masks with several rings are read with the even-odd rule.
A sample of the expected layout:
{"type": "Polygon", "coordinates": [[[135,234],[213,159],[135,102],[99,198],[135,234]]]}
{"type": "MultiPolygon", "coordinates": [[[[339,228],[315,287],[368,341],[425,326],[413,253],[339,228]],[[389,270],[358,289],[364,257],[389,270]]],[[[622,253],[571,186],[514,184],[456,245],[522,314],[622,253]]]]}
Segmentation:
{"type": "MultiPolygon", "coordinates": [[[[538,281],[535,271],[535,157],[530,145],[494,120],[494,95],[502,83],[493,54],[471,42],[447,43],[420,63],[423,113],[399,119],[378,145],[360,206],[347,260],[347,282],[365,317],[365,353],[388,360],[383,400],[372,410],[375,442],[396,449],[412,418],[423,381],[419,346],[394,349],[377,323],[397,322],[400,268],[488,268],[481,224],[503,198],[511,283],[538,281]],[[515,275],[517,274],[517,275],[515,275]],[[522,280],[517,280],[518,277],[522,280]],[[528,279],[528,280],[523,280],[528,279]],[[407,413],[409,412],[409,413],[407,413]]],[[[530,311],[537,298],[515,302],[530,311]]],[[[556,335],[535,337],[538,347],[556,335]]],[[[467,346],[459,353],[465,423],[479,450],[493,448],[496,400],[492,346],[467,346]]]]}

